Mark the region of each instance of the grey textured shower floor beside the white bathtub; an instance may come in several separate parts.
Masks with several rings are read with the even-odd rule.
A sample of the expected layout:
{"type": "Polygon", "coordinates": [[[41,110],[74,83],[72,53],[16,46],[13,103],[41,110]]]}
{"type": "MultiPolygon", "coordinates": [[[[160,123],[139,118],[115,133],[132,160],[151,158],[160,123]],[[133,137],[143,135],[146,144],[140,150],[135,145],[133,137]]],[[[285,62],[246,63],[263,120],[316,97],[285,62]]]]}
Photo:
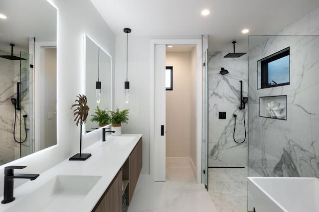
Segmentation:
{"type": "Polygon", "coordinates": [[[247,212],[247,168],[209,168],[208,193],[218,212],[247,212]]]}

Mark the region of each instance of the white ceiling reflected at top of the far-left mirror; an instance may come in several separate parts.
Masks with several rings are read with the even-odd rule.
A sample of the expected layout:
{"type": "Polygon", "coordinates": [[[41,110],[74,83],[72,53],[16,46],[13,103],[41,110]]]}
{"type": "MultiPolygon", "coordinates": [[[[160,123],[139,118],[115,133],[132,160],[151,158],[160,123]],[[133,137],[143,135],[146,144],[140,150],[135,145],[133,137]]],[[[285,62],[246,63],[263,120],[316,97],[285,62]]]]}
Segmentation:
{"type": "Polygon", "coordinates": [[[29,51],[29,37],[36,41],[55,41],[57,10],[46,0],[0,0],[0,49],[14,54],[29,51]]]}

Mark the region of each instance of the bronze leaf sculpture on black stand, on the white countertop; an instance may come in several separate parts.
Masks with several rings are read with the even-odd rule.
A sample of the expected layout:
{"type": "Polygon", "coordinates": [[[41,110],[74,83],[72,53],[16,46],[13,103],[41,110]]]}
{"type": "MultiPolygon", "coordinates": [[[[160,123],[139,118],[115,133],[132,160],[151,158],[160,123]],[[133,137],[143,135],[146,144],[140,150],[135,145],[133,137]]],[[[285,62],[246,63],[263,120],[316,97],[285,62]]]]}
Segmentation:
{"type": "Polygon", "coordinates": [[[86,160],[91,157],[91,153],[82,153],[82,124],[86,122],[86,118],[88,117],[89,106],[86,105],[88,99],[85,95],[76,96],[79,98],[75,100],[77,104],[71,106],[71,109],[75,106],[76,109],[73,110],[73,116],[75,116],[74,121],[76,121],[76,125],[80,124],[80,153],[77,153],[69,158],[69,160],[86,160]]]}

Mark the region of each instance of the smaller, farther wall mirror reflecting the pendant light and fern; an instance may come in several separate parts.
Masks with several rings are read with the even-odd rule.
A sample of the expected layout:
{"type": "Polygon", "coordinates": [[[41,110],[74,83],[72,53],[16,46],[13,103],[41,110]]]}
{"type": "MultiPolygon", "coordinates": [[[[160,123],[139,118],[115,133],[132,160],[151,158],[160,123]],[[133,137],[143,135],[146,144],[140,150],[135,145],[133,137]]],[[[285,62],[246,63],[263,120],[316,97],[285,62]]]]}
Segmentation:
{"type": "Polygon", "coordinates": [[[112,108],[112,57],[85,35],[85,94],[90,107],[85,123],[85,131],[99,128],[99,123],[91,121],[98,106],[102,110],[112,108]]]}

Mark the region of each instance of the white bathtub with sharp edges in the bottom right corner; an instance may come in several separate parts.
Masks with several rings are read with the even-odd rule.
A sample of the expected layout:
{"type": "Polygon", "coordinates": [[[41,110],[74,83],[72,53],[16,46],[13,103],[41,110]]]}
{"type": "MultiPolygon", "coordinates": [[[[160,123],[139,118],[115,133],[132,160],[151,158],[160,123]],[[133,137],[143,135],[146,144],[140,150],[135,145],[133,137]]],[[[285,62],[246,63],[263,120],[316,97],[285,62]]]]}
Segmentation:
{"type": "Polygon", "coordinates": [[[248,177],[256,212],[319,212],[319,179],[248,177]]]}

